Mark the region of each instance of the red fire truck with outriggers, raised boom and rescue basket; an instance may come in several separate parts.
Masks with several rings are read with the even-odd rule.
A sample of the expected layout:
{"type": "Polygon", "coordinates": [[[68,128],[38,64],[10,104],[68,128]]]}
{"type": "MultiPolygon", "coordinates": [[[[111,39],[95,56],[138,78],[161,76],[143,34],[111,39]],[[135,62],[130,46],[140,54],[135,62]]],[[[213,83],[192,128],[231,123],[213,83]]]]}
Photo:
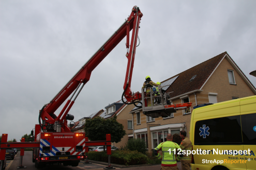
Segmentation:
{"type": "MultiPolygon", "coordinates": [[[[146,100],[144,93],[132,93],[130,89],[133,62],[135,51],[137,47],[138,32],[140,28],[140,20],[143,14],[140,8],[134,6],[129,18],[119,27],[113,35],[104,43],[97,52],[82,66],[82,68],[75,74],[70,81],[52,98],[52,100],[44,105],[39,112],[39,124],[35,126],[35,142],[17,142],[7,143],[7,134],[3,134],[1,143],[0,160],[5,158],[5,149],[7,148],[34,148],[33,162],[37,168],[46,166],[46,164],[63,163],[63,165],[78,166],[81,160],[85,159],[85,153],[88,152],[88,146],[107,146],[107,154],[111,155],[111,140],[110,135],[107,134],[107,141],[89,141],[83,132],[72,132],[68,127],[67,121],[72,121],[74,116],[68,114],[69,110],[77,99],[79,93],[84,85],[89,81],[92,71],[95,67],[111,52],[111,50],[126,36],[126,57],[128,59],[127,71],[124,83],[123,97],[127,101],[124,104],[140,104],[143,105],[146,100]],[[129,43],[129,33],[132,30],[131,43],[129,43]],[[62,111],[56,116],[55,111],[67,100],[66,105],[62,111]],[[143,101],[143,104],[141,102],[143,101]]],[[[160,88],[159,88],[160,90],[160,88]]],[[[152,91],[153,94],[153,91],[152,91]]],[[[154,97],[151,99],[154,100],[154,97]]],[[[178,109],[175,105],[168,105],[166,96],[161,93],[161,104],[152,107],[143,107],[144,114],[154,116],[167,116],[171,112],[178,109]],[[165,98],[164,98],[165,97],[165,98]],[[150,109],[152,108],[152,109],[150,109]],[[168,111],[169,110],[169,111],[168,111]]],[[[136,105],[135,105],[136,106],[136,105]]],[[[184,104],[182,107],[191,106],[191,103],[184,104]],[[185,106],[186,105],[186,106],[185,106]]],[[[139,106],[138,107],[142,107],[139,106]]],[[[180,108],[182,108],[180,107],[180,108]]],[[[32,132],[33,133],[33,132],[32,132]]],[[[22,157],[21,157],[22,162],[22,157]]],[[[21,165],[22,166],[22,163],[21,165]]],[[[110,163],[109,163],[109,168],[110,163]]]]}

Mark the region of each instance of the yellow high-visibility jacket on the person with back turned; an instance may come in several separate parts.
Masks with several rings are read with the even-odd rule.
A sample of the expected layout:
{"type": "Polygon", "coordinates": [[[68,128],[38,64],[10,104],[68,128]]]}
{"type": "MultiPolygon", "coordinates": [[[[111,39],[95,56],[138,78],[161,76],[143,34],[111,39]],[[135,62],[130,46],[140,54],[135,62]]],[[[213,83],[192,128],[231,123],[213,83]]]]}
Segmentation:
{"type": "Polygon", "coordinates": [[[156,157],[158,159],[162,159],[162,166],[177,166],[177,162],[174,154],[174,150],[176,150],[176,153],[177,153],[177,149],[180,149],[179,145],[172,141],[162,142],[155,148],[155,150],[157,150],[156,157]],[[159,150],[162,150],[162,156],[159,154],[158,152],[159,150]],[[170,154],[170,151],[171,151],[171,154],[170,154]]]}

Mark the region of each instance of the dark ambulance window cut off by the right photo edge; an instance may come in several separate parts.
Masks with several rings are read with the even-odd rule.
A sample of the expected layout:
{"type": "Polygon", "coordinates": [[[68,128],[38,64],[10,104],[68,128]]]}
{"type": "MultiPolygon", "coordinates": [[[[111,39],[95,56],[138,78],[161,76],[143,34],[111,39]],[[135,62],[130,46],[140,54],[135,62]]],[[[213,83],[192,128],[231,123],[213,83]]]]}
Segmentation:
{"type": "Polygon", "coordinates": [[[256,145],[256,113],[244,114],[241,118],[244,144],[256,145]]]}

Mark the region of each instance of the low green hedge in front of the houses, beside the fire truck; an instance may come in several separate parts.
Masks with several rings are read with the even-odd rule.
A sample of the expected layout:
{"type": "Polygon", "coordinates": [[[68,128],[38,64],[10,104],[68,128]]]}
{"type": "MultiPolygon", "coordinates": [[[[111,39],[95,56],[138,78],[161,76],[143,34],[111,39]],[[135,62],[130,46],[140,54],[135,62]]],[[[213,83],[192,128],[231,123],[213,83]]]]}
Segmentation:
{"type": "MultiPolygon", "coordinates": [[[[89,151],[88,159],[94,161],[108,162],[107,152],[96,152],[89,151]]],[[[148,157],[137,150],[114,150],[111,155],[111,163],[121,164],[121,165],[140,165],[147,164],[148,157]]]]}

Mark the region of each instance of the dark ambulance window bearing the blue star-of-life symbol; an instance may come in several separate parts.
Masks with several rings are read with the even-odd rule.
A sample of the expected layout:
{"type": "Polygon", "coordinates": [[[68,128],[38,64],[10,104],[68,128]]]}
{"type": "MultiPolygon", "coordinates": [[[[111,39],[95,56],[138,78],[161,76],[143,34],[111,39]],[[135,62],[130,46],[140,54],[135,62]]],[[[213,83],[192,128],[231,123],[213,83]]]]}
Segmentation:
{"type": "Polygon", "coordinates": [[[194,144],[242,144],[240,115],[198,121],[195,123],[194,144]]]}

